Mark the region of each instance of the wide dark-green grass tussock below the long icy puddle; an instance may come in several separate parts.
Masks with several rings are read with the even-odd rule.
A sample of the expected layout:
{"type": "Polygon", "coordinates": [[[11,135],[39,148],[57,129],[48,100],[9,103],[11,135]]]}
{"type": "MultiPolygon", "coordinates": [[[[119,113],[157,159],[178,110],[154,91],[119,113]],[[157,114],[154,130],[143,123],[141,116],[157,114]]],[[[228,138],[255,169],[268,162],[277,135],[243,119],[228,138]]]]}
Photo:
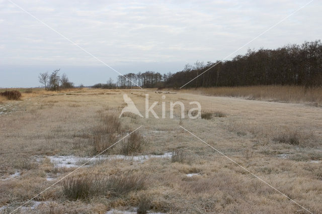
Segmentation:
{"type": "Polygon", "coordinates": [[[62,180],[64,195],[70,200],[90,199],[94,196],[119,197],[146,187],[147,176],[123,173],[120,175],[74,175],[62,180]]]}

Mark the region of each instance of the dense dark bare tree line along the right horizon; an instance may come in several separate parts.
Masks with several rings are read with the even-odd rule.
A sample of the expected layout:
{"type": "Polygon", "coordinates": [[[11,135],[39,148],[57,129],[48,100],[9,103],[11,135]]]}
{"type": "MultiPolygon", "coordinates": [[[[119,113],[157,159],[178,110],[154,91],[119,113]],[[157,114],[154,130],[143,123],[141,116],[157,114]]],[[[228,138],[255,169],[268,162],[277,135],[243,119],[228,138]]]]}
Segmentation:
{"type": "Polygon", "coordinates": [[[274,50],[248,50],[245,55],[222,62],[205,64],[197,61],[194,66],[187,64],[182,71],[171,75],[164,81],[164,86],[179,88],[207,69],[185,87],[270,84],[321,86],[322,43],[316,40],[274,50]]]}

